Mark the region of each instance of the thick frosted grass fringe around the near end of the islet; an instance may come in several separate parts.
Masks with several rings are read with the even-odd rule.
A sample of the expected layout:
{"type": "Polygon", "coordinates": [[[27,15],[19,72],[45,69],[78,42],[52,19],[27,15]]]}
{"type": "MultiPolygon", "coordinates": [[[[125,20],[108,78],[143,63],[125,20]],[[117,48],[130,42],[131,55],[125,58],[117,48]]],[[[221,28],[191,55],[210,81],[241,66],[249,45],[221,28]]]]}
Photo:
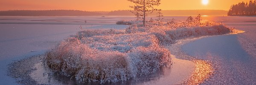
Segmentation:
{"type": "MultiPolygon", "coordinates": [[[[61,72],[66,76],[76,74],[76,79],[81,81],[124,81],[137,75],[150,74],[161,65],[171,63],[169,51],[157,46],[156,42],[151,43],[146,47],[132,46],[134,49],[122,53],[111,50],[101,51],[95,49],[96,46],[90,48],[87,43],[70,37],[47,52],[45,62],[55,72],[61,72]]],[[[93,44],[98,43],[93,42],[93,44]]]]}

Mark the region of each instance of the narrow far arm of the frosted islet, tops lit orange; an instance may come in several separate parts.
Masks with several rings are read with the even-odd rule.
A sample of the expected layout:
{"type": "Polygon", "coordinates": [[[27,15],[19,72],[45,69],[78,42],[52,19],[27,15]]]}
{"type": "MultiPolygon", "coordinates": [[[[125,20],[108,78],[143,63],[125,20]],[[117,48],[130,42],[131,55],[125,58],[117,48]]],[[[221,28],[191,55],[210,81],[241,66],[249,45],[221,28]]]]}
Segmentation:
{"type": "Polygon", "coordinates": [[[221,23],[215,22],[162,22],[160,26],[156,24],[156,22],[151,21],[147,22],[146,26],[143,27],[131,25],[131,27],[126,29],[126,32],[146,32],[149,34],[154,34],[159,40],[160,44],[169,44],[177,39],[199,37],[205,35],[227,34],[233,30],[232,28],[227,28],[221,23]]]}

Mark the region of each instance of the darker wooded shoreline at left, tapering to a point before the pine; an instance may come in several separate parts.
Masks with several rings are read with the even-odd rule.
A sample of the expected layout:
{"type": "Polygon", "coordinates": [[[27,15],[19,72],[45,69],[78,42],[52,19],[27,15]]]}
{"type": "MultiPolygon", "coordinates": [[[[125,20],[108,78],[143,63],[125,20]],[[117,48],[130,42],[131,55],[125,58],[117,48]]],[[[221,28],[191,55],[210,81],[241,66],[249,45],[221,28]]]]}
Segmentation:
{"type": "Polygon", "coordinates": [[[95,11],[79,10],[9,10],[0,11],[0,16],[102,16],[95,11]]]}

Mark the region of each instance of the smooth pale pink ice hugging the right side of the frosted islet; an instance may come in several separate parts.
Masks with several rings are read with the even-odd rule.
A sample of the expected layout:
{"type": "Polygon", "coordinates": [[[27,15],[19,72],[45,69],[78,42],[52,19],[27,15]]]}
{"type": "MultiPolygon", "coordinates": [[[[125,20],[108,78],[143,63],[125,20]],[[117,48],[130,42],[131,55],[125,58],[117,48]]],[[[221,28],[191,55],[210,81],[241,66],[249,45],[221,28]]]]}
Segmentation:
{"type": "Polygon", "coordinates": [[[163,70],[161,77],[157,77],[148,82],[140,82],[139,85],[175,85],[189,79],[195,70],[195,63],[189,60],[177,59],[172,55],[172,68],[160,68],[163,70]]]}

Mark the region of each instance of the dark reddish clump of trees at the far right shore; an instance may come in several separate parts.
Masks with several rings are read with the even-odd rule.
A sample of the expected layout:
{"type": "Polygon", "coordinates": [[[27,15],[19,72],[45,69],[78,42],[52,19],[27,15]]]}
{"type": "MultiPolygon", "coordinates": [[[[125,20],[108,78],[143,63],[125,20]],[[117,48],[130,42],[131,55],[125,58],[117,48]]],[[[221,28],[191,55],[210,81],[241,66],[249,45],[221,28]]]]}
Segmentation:
{"type": "Polygon", "coordinates": [[[238,3],[232,5],[227,13],[228,16],[256,16],[256,0],[249,3],[238,3]]]}

